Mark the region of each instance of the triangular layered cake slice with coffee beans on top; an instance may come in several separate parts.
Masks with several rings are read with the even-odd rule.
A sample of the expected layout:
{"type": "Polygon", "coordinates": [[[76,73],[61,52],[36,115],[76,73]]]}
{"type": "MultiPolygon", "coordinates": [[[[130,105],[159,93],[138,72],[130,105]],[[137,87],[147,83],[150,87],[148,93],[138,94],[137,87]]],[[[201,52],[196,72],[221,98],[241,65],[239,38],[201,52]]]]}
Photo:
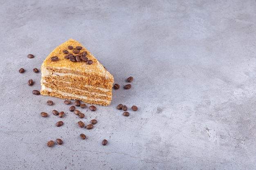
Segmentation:
{"type": "Polygon", "coordinates": [[[41,66],[41,95],[109,105],[113,76],[79,42],[57,46],[41,66]]]}

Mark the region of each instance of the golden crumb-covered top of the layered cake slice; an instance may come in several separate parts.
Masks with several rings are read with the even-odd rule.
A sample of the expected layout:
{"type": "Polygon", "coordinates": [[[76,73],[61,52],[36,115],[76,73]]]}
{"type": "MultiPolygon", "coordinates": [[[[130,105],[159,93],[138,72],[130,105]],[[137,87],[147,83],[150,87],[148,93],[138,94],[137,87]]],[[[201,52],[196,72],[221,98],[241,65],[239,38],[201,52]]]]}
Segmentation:
{"type": "Polygon", "coordinates": [[[59,70],[66,69],[69,70],[70,73],[72,73],[72,71],[76,71],[80,73],[90,73],[92,75],[101,75],[103,77],[113,80],[113,76],[108,71],[106,71],[106,69],[90,53],[90,51],[85,49],[82,44],[73,39],[69,39],[63,44],[57,46],[45,58],[41,69],[44,67],[50,69],[56,68],[59,70]],[[73,57],[69,59],[67,55],[73,55],[73,57]],[[83,56],[85,56],[85,58],[83,56]],[[82,57],[85,60],[82,60],[82,57]],[[88,62],[86,62],[86,60],[88,60],[88,62]]]}

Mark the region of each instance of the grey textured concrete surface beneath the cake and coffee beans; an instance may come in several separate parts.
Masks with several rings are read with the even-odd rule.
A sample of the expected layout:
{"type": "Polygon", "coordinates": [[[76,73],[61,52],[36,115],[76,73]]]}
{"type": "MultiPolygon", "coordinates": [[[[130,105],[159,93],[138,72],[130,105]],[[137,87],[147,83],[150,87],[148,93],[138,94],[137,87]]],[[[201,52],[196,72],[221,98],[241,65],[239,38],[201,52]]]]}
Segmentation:
{"type": "Polygon", "coordinates": [[[255,0],[10,0],[0,15],[1,170],[256,169],[255,0]],[[31,93],[32,69],[69,38],[115,83],[134,77],[110,106],[80,109],[85,124],[98,120],[92,130],[63,99],[31,93]],[[139,110],[124,117],[119,103],[139,110]],[[56,138],[63,145],[46,146],[56,138]]]}

